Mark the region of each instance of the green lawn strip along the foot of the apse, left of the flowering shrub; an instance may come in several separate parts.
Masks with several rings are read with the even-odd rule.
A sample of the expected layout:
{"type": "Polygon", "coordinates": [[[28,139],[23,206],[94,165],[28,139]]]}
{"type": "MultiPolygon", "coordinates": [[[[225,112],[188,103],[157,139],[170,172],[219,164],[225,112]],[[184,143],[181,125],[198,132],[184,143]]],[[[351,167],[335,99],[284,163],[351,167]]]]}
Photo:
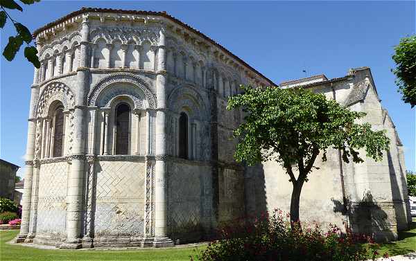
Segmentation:
{"type": "Polygon", "coordinates": [[[195,255],[196,250],[205,246],[171,249],[136,249],[136,250],[60,250],[35,249],[18,244],[6,244],[19,231],[0,231],[0,260],[190,260],[189,255],[195,255]]]}

